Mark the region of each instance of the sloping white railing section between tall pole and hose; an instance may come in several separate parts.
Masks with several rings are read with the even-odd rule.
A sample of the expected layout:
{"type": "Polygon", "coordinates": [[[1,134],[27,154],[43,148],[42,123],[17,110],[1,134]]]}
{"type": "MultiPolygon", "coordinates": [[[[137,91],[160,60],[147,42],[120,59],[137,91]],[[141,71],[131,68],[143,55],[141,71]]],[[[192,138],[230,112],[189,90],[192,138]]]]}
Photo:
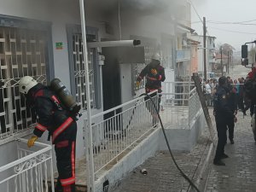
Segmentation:
{"type": "MultiPolygon", "coordinates": [[[[154,91],[155,103],[157,99],[154,91]]],[[[140,96],[91,117],[95,174],[108,170],[120,159],[120,155],[154,129],[157,114],[153,104],[145,100],[145,96],[140,96]]]]}

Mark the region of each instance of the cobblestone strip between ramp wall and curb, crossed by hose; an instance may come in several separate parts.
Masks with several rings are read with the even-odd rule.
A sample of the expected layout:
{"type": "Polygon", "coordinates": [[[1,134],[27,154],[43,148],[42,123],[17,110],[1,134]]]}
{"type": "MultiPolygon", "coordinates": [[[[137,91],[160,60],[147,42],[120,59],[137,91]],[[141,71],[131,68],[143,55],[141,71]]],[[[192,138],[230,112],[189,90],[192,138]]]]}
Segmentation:
{"type": "MultiPolygon", "coordinates": [[[[208,147],[209,140],[207,134],[204,134],[190,153],[174,152],[178,166],[189,178],[195,178],[198,167],[206,157],[208,147]]],[[[189,183],[177,171],[170,154],[164,151],[137,167],[119,182],[114,192],[183,192],[188,189],[189,183]],[[146,169],[148,175],[143,175],[140,172],[142,169],[146,169]]]]}

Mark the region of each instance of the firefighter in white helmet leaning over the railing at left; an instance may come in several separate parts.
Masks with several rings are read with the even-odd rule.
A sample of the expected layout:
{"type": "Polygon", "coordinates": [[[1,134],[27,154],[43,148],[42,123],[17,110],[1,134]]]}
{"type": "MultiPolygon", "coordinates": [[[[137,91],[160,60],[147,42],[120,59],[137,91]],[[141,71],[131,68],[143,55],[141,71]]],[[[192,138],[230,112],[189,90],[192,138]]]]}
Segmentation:
{"type": "Polygon", "coordinates": [[[33,146],[44,131],[49,131],[55,144],[57,170],[59,172],[56,192],[75,192],[75,148],[77,124],[70,113],[61,106],[61,102],[49,87],[38,84],[32,77],[20,79],[20,93],[26,96],[26,102],[38,116],[34,136],[27,146],[33,146]]]}

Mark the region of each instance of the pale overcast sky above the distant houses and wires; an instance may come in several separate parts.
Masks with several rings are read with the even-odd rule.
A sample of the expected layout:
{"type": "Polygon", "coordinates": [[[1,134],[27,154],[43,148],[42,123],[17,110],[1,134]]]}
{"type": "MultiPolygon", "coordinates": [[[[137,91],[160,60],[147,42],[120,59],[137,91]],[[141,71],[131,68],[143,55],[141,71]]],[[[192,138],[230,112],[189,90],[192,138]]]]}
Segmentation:
{"type": "MultiPolygon", "coordinates": [[[[206,17],[207,35],[218,44],[231,44],[236,50],[241,44],[256,40],[256,0],[191,0],[201,20],[206,17]],[[252,20],[252,21],[248,21],[252,20]],[[247,22],[244,22],[247,21],[247,22]],[[214,23],[213,23],[214,22],[214,23]],[[221,24],[217,24],[221,22],[221,24]],[[224,23],[223,22],[227,22],[224,23]],[[229,24],[242,22],[241,24],[229,24]]],[[[191,6],[191,27],[202,35],[202,23],[191,6]]]]}

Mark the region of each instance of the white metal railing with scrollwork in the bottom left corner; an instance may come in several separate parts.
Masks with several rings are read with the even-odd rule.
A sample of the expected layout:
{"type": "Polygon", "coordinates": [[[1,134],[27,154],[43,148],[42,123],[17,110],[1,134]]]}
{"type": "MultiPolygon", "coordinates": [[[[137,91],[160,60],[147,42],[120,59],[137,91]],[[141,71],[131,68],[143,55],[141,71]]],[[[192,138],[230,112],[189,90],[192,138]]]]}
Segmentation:
{"type": "Polygon", "coordinates": [[[44,143],[35,143],[33,148],[27,148],[26,143],[27,140],[19,139],[9,143],[9,149],[6,146],[4,149],[0,148],[6,150],[5,156],[10,159],[0,166],[0,190],[48,192],[51,188],[54,192],[52,147],[44,143]],[[17,154],[14,151],[17,151],[17,154]]]}

